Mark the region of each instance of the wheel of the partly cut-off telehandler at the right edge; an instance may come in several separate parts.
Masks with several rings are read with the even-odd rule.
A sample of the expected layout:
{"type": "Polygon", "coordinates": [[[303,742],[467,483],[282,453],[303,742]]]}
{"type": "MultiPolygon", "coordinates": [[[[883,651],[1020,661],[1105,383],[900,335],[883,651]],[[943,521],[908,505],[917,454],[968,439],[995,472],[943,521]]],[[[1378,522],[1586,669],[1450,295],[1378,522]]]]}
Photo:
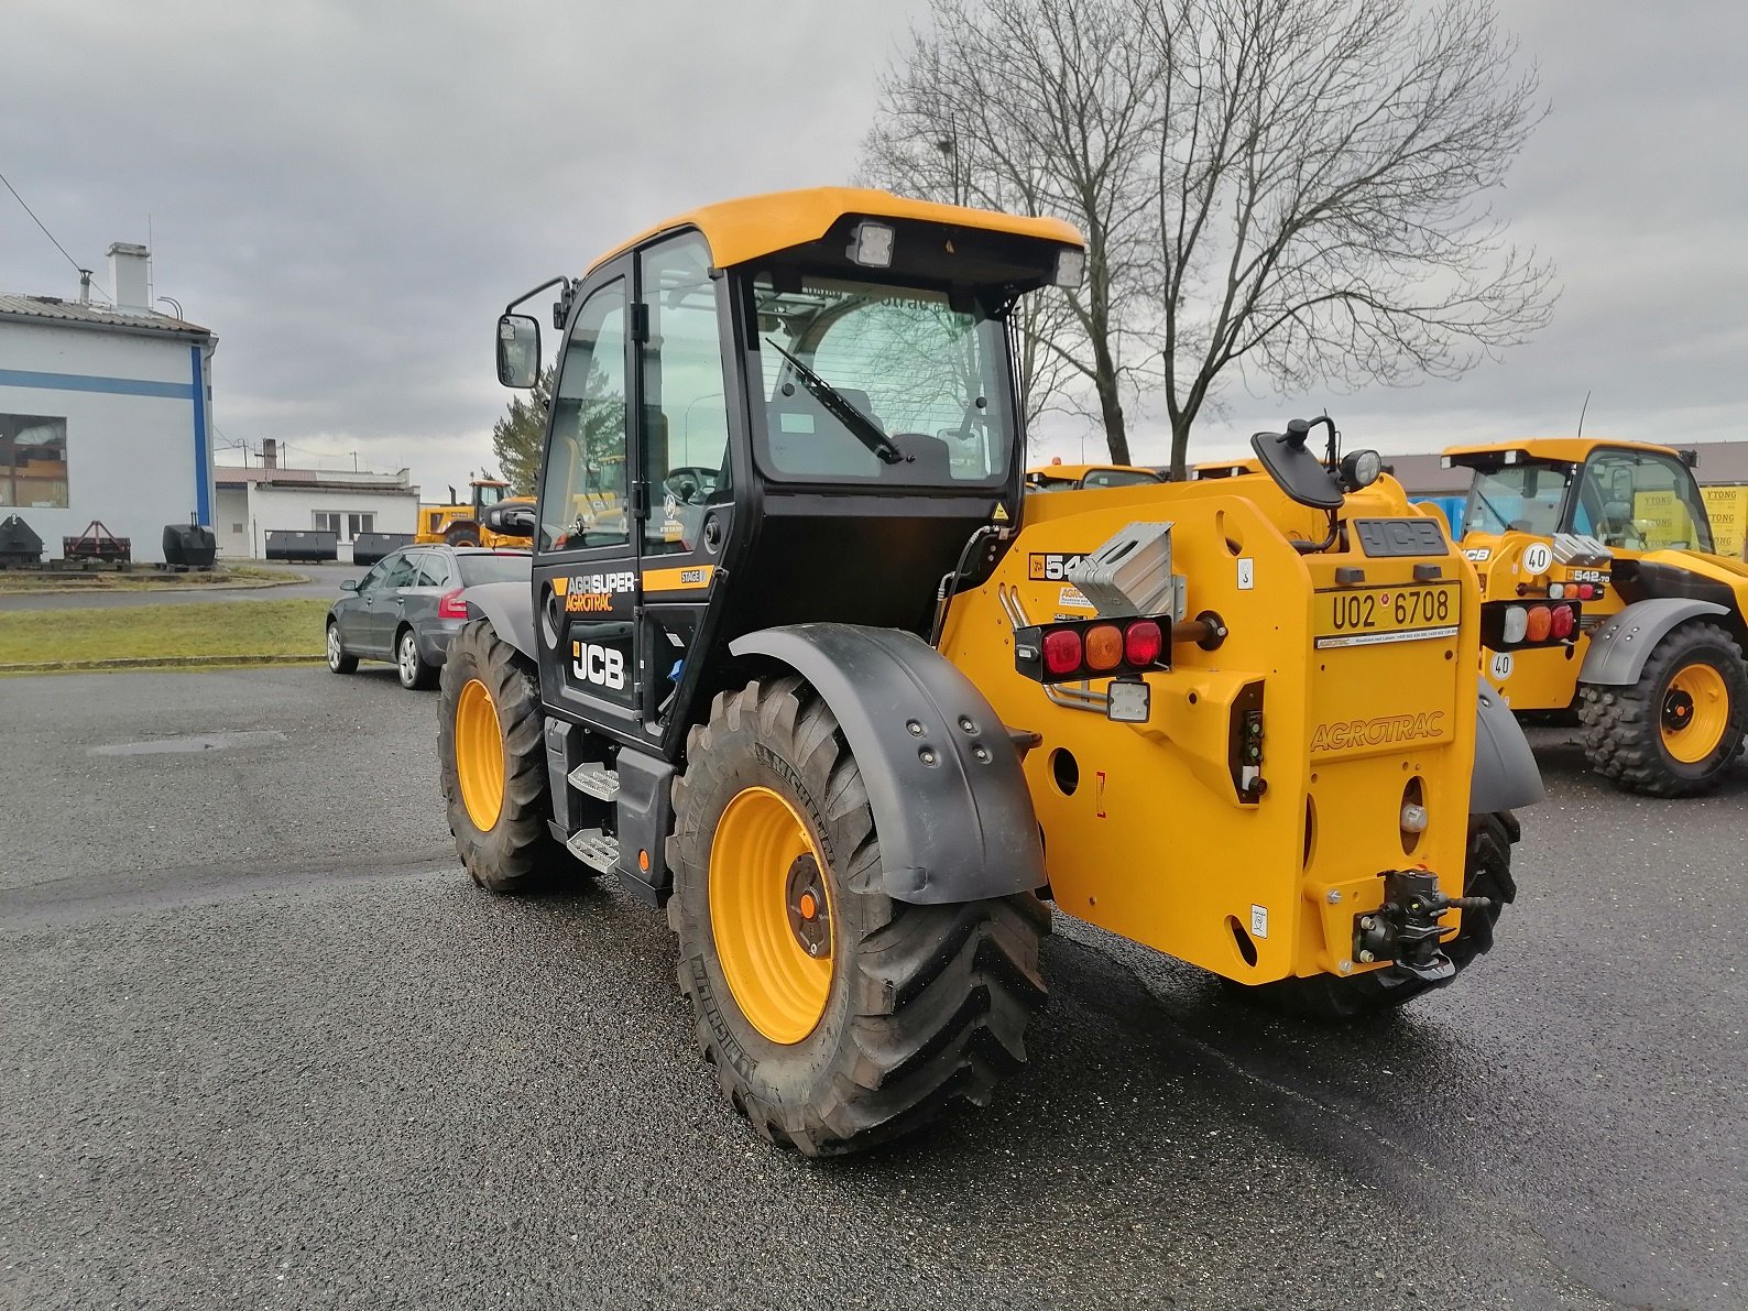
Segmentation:
{"type": "Polygon", "coordinates": [[[1689,797],[1717,787],[1748,731],[1748,671],[1717,624],[1687,622],[1631,687],[1580,689],[1591,767],[1627,792],[1689,797]]]}

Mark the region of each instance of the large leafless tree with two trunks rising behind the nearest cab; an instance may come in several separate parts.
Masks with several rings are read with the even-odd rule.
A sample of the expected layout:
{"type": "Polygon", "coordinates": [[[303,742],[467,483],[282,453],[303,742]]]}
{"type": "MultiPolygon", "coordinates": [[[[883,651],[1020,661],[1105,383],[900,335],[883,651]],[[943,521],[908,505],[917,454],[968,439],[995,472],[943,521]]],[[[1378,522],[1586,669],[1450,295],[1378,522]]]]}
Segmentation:
{"type": "Polygon", "coordinates": [[[1120,463],[1143,371],[1182,477],[1234,374],[1449,378],[1552,311],[1550,264],[1486,203],[1540,117],[1491,0],[932,0],[930,19],[864,171],[1080,227],[1087,283],[1059,320],[1037,297],[1021,372],[1040,409],[1091,383],[1120,463]]]}

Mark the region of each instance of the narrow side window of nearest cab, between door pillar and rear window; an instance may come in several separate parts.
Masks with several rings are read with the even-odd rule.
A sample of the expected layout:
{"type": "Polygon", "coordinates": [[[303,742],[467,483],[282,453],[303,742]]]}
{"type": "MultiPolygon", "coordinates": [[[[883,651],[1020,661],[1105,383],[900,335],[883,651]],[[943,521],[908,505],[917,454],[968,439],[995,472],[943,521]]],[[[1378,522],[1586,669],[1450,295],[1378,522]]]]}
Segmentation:
{"type": "Polygon", "coordinates": [[[710,248],[696,232],[643,253],[643,554],[692,551],[704,507],[729,496],[729,404],[710,248]]]}

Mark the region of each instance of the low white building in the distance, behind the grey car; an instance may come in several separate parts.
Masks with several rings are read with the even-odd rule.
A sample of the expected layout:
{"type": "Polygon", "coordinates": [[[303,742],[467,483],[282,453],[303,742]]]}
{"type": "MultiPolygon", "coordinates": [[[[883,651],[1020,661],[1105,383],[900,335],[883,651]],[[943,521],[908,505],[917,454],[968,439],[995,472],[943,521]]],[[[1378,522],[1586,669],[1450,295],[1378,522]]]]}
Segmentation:
{"type": "Polygon", "coordinates": [[[351,559],[358,533],[413,533],[420,489],[406,468],[364,474],[332,468],[280,468],[276,444],[262,442],[264,468],[217,468],[213,531],[224,559],[262,559],[274,530],[339,535],[339,558],[351,559]]]}

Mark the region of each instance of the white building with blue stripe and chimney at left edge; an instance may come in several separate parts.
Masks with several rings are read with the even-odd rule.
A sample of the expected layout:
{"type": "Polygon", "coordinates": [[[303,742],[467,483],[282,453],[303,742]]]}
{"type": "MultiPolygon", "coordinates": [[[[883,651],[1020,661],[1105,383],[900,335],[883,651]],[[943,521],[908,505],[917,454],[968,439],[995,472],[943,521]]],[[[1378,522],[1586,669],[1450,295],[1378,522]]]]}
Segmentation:
{"type": "Polygon", "coordinates": [[[0,519],[17,514],[61,556],[96,519],[164,558],[164,526],[212,524],[206,329],[156,315],[150,253],[108,248],[115,306],[0,295],[0,519]]]}

